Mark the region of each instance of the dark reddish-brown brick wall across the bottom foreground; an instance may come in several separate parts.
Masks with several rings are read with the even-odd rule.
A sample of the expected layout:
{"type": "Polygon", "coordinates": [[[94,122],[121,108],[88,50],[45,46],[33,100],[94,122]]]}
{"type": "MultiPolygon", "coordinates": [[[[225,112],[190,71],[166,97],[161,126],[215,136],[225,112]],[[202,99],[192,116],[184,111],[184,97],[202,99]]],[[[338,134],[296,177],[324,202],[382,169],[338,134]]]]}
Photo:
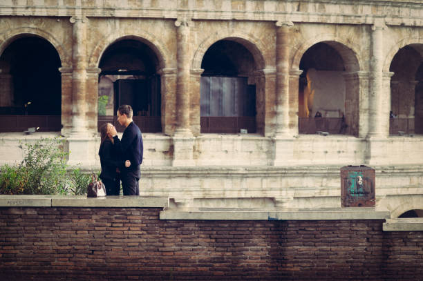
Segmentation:
{"type": "Polygon", "coordinates": [[[159,220],[0,208],[0,280],[423,280],[423,232],[383,220],[159,220]]]}

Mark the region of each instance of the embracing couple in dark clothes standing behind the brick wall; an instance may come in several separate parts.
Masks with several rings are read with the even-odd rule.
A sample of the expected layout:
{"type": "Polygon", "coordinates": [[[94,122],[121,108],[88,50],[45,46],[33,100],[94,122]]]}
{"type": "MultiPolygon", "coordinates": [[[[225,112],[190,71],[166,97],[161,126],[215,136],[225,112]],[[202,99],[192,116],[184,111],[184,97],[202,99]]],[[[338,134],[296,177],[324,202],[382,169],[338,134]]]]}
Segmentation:
{"type": "Polygon", "coordinates": [[[140,195],[140,164],[142,163],[141,130],[132,120],[131,106],[118,108],[118,122],[126,127],[120,140],[115,126],[106,123],[100,129],[100,179],[106,186],[106,195],[119,195],[120,181],[124,195],[140,195]]]}

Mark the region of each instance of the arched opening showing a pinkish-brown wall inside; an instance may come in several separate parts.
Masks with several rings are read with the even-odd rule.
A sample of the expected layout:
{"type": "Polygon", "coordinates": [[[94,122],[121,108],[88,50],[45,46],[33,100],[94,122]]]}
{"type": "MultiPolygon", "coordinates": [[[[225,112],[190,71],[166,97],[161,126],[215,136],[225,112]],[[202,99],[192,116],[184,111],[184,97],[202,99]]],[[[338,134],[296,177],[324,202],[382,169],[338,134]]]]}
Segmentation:
{"type": "Polygon", "coordinates": [[[341,43],[326,41],[314,44],[303,55],[299,68],[299,133],[357,135],[358,79],[349,79],[348,71],[357,71],[355,60],[341,43]],[[348,101],[348,102],[347,102],[348,101]]]}

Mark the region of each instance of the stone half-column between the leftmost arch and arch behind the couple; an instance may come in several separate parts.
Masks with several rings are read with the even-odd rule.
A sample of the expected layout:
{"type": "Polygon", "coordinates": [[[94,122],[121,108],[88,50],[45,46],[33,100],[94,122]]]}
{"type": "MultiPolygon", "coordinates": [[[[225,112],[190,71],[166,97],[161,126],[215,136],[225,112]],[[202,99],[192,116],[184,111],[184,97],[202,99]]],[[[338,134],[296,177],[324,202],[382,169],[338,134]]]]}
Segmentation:
{"type": "Polygon", "coordinates": [[[86,21],[71,17],[72,29],[72,131],[74,136],[87,136],[86,125],[86,21]]]}

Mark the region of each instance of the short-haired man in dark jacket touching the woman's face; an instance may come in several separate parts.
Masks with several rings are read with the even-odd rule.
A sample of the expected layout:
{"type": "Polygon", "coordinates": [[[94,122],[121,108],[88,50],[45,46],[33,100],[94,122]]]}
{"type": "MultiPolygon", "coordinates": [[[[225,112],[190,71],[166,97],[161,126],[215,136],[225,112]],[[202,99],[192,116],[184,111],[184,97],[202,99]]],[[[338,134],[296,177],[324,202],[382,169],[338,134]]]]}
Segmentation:
{"type": "Polygon", "coordinates": [[[123,105],[118,108],[118,122],[126,127],[120,140],[122,159],[126,159],[126,165],[122,166],[130,164],[128,168],[122,168],[122,171],[120,171],[124,195],[140,195],[138,181],[141,176],[142,135],[140,128],[133,122],[132,115],[131,106],[123,105]]]}

